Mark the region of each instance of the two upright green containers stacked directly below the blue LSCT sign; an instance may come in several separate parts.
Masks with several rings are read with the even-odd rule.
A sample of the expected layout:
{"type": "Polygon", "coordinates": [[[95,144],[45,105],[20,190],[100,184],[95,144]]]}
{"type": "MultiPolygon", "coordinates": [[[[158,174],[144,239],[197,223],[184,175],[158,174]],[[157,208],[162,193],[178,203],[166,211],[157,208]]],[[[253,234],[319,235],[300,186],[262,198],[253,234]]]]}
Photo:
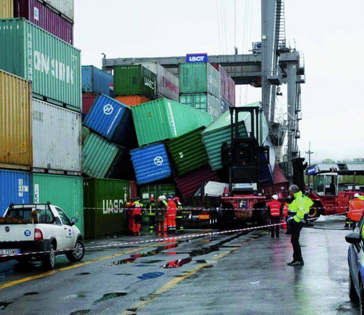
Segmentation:
{"type": "Polygon", "coordinates": [[[220,73],[209,63],[180,64],[180,102],[211,114],[221,115],[220,73]]]}

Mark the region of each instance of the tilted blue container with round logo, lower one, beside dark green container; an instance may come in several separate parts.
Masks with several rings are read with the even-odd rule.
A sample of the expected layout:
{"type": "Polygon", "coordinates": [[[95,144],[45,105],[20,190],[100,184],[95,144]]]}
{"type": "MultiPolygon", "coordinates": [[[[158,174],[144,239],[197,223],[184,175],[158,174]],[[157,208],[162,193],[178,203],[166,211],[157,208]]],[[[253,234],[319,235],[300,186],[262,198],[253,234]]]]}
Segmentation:
{"type": "Polygon", "coordinates": [[[145,184],[172,174],[167,151],[163,143],[156,143],[130,151],[136,182],[145,184]]]}

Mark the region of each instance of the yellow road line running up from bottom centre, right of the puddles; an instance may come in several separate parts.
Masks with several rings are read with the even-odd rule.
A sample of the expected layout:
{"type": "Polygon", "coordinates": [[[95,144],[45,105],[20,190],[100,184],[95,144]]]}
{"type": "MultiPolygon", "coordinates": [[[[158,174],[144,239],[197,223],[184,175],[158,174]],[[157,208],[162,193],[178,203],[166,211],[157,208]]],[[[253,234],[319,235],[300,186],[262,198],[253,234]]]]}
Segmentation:
{"type": "MultiPolygon", "coordinates": [[[[263,236],[264,234],[266,234],[265,231],[259,233],[260,236],[263,236]]],[[[218,259],[232,253],[234,250],[241,248],[243,245],[247,244],[248,241],[244,241],[243,243],[238,244],[236,247],[233,247],[229,250],[225,250],[223,251],[221,254],[215,256],[214,258],[212,258],[211,260],[217,261],[218,259]]],[[[170,289],[172,289],[174,286],[176,286],[178,283],[182,282],[183,280],[191,277],[193,274],[195,274],[196,272],[198,272],[200,269],[206,267],[209,264],[200,264],[197,267],[186,271],[186,273],[184,275],[182,275],[181,277],[176,277],[173,280],[171,280],[170,282],[167,282],[165,285],[163,285],[161,288],[159,288],[157,291],[155,291],[154,293],[150,294],[148,296],[148,298],[134,304],[133,307],[129,308],[129,310],[132,311],[124,311],[122,313],[120,313],[119,315],[130,315],[132,312],[136,312],[144,307],[146,307],[148,304],[150,304],[151,302],[153,302],[156,298],[158,298],[161,294],[169,291],[170,289]]]]}

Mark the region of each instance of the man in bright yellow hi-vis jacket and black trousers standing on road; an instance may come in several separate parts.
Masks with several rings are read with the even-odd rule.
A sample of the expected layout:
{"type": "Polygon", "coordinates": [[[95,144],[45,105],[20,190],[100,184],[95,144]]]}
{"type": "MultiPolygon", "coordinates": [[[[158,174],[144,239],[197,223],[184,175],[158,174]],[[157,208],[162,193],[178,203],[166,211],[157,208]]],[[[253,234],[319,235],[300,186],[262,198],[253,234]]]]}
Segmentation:
{"type": "Polygon", "coordinates": [[[289,187],[289,193],[294,200],[289,205],[289,210],[296,212],[296,215],[292,219],[291,223],[291,243],[293,247],[293,261],[287,263],[287,265],[296,266],[303,265],[301,246],[299,245],[299,234],[307,222],[307,218],[310,213],[310,207],[314,202],[308,198],[303,197],[301,191],[297,185],[291,185],[289,187]]]}

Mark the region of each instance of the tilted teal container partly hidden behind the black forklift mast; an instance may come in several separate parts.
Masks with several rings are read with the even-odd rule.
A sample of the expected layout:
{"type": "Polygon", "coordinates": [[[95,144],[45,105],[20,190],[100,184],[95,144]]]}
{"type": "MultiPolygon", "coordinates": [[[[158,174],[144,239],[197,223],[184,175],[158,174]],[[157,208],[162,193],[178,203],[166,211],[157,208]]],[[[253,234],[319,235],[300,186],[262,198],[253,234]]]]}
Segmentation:
{"type": "MultiPolygon", "coordinates": [[[[260,102],[247,104],[245,106],[261,106],[260,102]]],[[[262,134],[260,137],[260,144],[262,145],[265,138],[268,135],[268,125],[265,120],[264,114],[261,113],[260,117],[263,118],[262,134]],[[263,141],[262,141],[263,139],[263,141]]],[[[235,119],[235,118],[234,118],[235,119]]],[[[240,113],[239,114],[239,132],[241,135],[248,135],[250,132],[250,114],[240,113]],[[248,132],[247,132],[248,131],[248,132]]],[[[221,146],[226,142],[229,146],[231,145],[231,117],[230,111],[223,113],[216,121],[214,121],[209,127],[207,127],[202,133],[202,143],[204,144],[207,155],[209,157],[209,163],[213,170],[222,168],[221,165],[221,146]]],[[[255,124],[256,125],[256,124],[255,124]]]]}

